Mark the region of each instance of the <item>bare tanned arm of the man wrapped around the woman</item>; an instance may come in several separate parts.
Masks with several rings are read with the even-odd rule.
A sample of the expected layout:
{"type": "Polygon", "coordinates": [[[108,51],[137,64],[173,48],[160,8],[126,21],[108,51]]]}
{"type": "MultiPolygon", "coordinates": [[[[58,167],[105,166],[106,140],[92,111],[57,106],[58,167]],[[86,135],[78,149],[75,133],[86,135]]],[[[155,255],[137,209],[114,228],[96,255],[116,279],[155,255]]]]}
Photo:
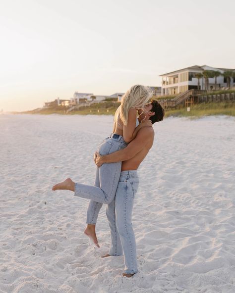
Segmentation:
{"type": "Polygon", "coordinates": [[[146,126],[141,128],[136,138],[131,141],[127,147],[117,150],[116,152],[101,156],[97,155],[95,162],[98,166],[104,163],[117,163],[120,161],[126,161],[135,156],[141,151],[147,143],[153,138],[154,131],[152,127],[146,126]]]}

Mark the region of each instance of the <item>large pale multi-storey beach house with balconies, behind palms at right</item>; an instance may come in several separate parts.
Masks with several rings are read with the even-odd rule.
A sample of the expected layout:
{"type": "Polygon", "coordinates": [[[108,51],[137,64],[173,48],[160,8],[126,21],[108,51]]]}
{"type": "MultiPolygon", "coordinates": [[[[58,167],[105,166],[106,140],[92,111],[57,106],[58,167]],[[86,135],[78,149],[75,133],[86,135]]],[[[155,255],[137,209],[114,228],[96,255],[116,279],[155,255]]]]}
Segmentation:
{"type": "MultiPolygon", "coordinates": [[[[216,68],[207,65],[203,66],[190,66],[169,73],[162,74],[162,92],[161,95],[175,95],[186,92],[187,90],[198,88],[198,79],[195,77],[197,73],[202,73],[203,70],[220,71],[221,75],[217,77],[217,88],[223,88],[227,86],[226,78],[222,76],[222,73],[228,70],[228,68],[216,68]]],[[[231,80],[231,86],[235,84],[235,78],[231,80]]],[[[205,90],[204,78],[199,80],[200,90],[205,90]]],[[[209,78],[209,90],[215,90],[215,78],[209,78]]]]}

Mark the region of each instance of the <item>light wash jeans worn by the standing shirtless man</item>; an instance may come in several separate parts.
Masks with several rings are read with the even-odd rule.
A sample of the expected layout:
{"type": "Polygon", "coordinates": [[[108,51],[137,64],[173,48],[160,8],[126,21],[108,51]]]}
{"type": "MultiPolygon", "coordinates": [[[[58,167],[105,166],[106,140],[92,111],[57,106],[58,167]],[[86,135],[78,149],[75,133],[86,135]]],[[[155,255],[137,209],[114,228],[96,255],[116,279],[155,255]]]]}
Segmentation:
{"type": "Polygon", "coordinates": [[[124,252],[124,273],[137,272],[135,235],[131,223],[134,196],[138,189],[137,170],[122,171],[115,199],[107,206],[106,215],[111,230],[110,255],[124,252]]]}

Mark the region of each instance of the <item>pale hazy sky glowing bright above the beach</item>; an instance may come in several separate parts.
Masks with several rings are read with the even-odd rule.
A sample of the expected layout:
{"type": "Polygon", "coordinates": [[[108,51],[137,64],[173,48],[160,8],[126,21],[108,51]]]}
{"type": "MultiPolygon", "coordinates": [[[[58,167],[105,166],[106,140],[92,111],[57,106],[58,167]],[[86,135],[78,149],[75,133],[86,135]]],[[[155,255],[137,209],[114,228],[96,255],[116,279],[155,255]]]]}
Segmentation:
{"type": "Polygon", "coordinates": [[[0,110],[235,68],[234,0],[0,0],[0,110]]]}

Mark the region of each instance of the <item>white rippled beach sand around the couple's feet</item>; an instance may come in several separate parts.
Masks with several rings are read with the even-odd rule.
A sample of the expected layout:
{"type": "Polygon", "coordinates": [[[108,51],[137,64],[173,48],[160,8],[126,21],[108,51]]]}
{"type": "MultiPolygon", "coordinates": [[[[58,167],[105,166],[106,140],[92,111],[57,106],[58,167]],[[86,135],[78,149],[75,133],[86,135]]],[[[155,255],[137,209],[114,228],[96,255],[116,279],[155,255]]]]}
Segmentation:
{"type": "Polygon", "coordinates": [[[93,184],[112,116],[0,115],[0,293],[234,293],[235,119],[168,118],[139,168],[133,227],[139,272],[83,234],[88,200],[52,192],[93,184]]]}

